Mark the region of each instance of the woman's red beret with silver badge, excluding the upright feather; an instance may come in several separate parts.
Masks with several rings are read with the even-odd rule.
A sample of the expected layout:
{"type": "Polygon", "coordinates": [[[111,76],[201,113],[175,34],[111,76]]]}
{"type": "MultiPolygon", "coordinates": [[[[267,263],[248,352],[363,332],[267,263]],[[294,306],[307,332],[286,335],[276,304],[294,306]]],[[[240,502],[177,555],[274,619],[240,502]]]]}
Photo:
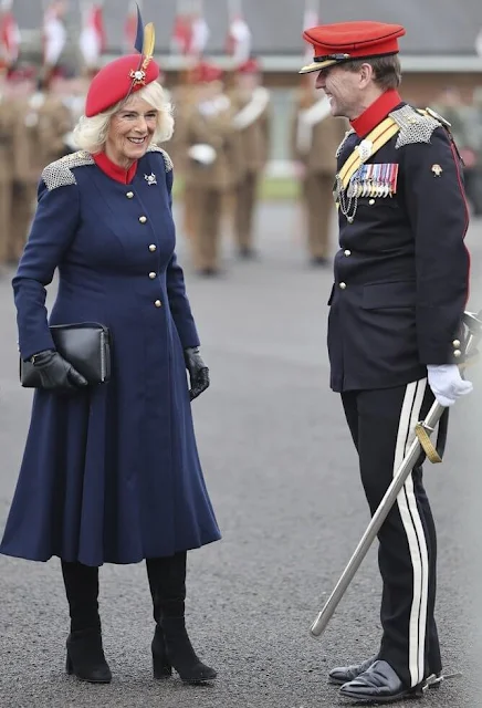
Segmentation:
{"type": "Polygon", "coordinates": [[[145,63],[142,54],[127,54],[103,66],[88,87],[85,102],[87,118],[112,108],[130,93],[156,81],[160,73],[159,64],[154,59],[145,63]]]}

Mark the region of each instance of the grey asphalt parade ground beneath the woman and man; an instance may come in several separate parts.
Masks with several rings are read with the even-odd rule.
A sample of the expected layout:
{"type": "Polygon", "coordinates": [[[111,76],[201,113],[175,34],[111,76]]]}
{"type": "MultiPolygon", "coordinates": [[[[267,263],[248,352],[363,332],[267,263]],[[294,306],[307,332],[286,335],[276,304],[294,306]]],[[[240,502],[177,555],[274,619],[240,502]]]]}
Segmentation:
{"type": "MultiPolygon", "coordinates": [[[[239,262],[226,239],[226,273],[186,268],[212,385],[193,403],[205,476],[223,533],[189,554],[188,628],[219,670],[212,687],[155,681],[144,564],[101,571],[109,686],[64,673],[69,632],[59,561],[0,556],[1,708],[324,708],[350,705],[329,667],[376,652],[380,581],[373,549],[325,635],[310,625],[369,521],[325,348],[331,269],[312,269],[292,204],[264,205],[259,259],[239,262]]],[[[470,306],[482,308],[482,222],[473,221],[470,306]]],[[[186,242],[180,239],[181,261],[186,242]]],[[[29,425],[18,383],[12,272],[0,278],[0,533],[29,425]]],[[[54,295],[54,288],[50,298],[54,295]]],[[[439,531],[438,620],[443,662],[461,678],[420,705],[481,708],[482,365],[474,393],[451,413],[443,465],[426,466],[439,531]]],[[[413,701],[399,704],[415,706],[413,701]]]]}

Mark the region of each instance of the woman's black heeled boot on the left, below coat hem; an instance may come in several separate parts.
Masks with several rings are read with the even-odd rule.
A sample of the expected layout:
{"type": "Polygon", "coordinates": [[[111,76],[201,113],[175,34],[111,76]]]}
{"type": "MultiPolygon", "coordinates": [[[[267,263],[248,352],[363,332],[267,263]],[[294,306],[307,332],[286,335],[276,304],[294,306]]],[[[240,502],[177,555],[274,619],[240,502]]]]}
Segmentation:
{"type": "Polygon", "coordinates": [[[109,684],[98,616],[98,569],[62,561],[62,574],[71,615],[66,671],[92,684],[109,684]]]}

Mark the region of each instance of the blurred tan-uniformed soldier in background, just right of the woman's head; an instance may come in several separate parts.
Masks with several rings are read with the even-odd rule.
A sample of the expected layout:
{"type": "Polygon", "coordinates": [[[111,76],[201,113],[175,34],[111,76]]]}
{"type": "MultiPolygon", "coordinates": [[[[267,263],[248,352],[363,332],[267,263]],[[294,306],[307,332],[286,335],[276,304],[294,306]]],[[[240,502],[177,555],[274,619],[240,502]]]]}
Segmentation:
{"type": "Polygon", "coordinates": [[[196,101],[186,116],[185,199],[195,212],[190,239],[195,268],[201,275],[220,270],[223,197],[239,180],[241,145],[233,106],[223,92],[222,71],[201,62],[196,101]]]}

